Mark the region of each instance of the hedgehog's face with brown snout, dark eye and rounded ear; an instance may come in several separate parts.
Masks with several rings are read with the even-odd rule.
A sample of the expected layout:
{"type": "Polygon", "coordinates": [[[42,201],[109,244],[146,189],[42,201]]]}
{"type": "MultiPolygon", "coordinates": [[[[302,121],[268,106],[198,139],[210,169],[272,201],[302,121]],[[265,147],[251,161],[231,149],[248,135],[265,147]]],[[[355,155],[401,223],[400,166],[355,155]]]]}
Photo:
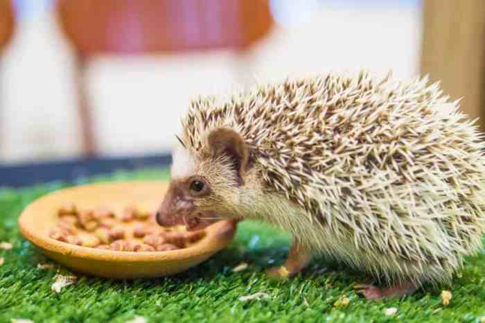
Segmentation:
{"type": "Polygon", "coordinates": [[[159,225],[186,225],[193,231],[233,217],[229,197],[243,184],[246,159],[240,135],[224,128],[209,134],[203,151],[175,150],[170,186],[157,213],[159,225]]]}

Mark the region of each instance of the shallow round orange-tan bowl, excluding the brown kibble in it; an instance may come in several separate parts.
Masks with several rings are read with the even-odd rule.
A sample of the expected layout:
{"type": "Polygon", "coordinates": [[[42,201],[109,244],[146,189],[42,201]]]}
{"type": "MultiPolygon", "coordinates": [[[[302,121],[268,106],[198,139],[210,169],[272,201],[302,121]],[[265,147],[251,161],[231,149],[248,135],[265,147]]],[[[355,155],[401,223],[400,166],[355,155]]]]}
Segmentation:
{"type": "Polygon", "coordinates": [[[55,191],[35,200],[19,218],[21,233],[46,256],[82,274],[114,279],[161,277],[191,268],[228,245],[236,232],[229,220],[206,227],[206,235],[194,245],[167,252],[118,252],[71,245],[48,237],[58,221],[60,206],[73,202],[94,209],[106,205],[115,212],[130,204],[156,210],[164,198],[166,182],[89,184],[55,191]]]}

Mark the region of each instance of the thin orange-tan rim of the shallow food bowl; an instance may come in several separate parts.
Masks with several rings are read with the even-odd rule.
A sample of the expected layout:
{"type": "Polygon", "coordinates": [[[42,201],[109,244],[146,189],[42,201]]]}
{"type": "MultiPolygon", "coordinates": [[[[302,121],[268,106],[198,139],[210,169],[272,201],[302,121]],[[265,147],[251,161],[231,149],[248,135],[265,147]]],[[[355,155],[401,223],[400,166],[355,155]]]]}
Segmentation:
{"type": "MultiPolygon", "coordinates": [[[[63,254],[65,256],[78,257],[83,259],[90,259],[96,261],[112,261],[119,263],[146,263],[146,262],[159,262],[159,261],[177,261],[184,259],[192,259],[195,256],[204,256],[207,254],[213,254],[222,249],[225,245],[231,242],[231,239],[227,241],[227,236],[221,234],[221,228],[227,225],[229,220],[221,220],[209,225],[203,229],[206,235],[195,245],[186,247],[179,250],[169,250],[164,252],[126,252],[126,251],[114,251],[114,250],[101,250],[94,247],[83,247],[80,245],[72,245],[70,243],[64,243],[50,238],[46,234],[39,234],[28,225],[28,218],[32,217],[33,209],[44,201],[44,199],[53,195],[62,194],[66,191],[73,191],[76,189],[89,188],[90,186],[113,186],[113,185],[127,185],[127,184],[144,184],[144,183],[160,183],[167,184],[167,181],[123,181],[123,182],[103,182],[93,184],[82,184],[77,186],[70,186],[65,189],[46,193],[39,198],[30,202],[27,207],[21,211],[18,225],[21,234],[31,243],[36,245],[42,250],[48,252],[55,252],[56,254],[63,254]],[[222,247],[221,247],[222,246],[222,247]]],[[[222,230],[224,232],[225,230],[222,230]]]]}

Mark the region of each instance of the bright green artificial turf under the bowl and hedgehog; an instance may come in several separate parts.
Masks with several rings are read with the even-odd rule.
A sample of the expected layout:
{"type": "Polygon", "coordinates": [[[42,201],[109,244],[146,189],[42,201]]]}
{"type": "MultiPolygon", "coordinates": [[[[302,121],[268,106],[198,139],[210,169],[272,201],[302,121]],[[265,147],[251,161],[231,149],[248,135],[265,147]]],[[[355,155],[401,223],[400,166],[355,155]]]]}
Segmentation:
{"type": "MultiPolygon", "coordinates": [[[[118,172],[85,182],[166,178],[165,171],[118,172]]],[[[288,236],[256,223],[243,222],[227,249],[175,277],[110,281],[80,277],[58,295],[51,292],[55,270],[38,270],[48,261],[17,228],[19,212],[32,200],[61,189],[62,183],[28,189],[0,189],[0,241],[13,244],[0,251],[0,322],[28,318],[34,322],[126,322],[135,315],[147,322],[480,322],[485,315],[485,254],[468,259],[455,279],[450,305],[441,303],[441,288],[412,297],[368,302],[353,292],[364,277],[351,270],[314,261],[302,274],[283,282],[270,281],[264,270],[283,261],[288,236]],[[231,268],[249,263],[243,272],[231,268]],[[241,302],[258,292],[271,299],[241,302]],[[335,307],[342,296],[348,306],[335,307]],[[396,307],[394,317],[385,308],[396,307]]],[[[60,268],[61,272],[67,272],[60,268]]],[[[485,319],[484,321],[485,322],[485,319]]]]}

